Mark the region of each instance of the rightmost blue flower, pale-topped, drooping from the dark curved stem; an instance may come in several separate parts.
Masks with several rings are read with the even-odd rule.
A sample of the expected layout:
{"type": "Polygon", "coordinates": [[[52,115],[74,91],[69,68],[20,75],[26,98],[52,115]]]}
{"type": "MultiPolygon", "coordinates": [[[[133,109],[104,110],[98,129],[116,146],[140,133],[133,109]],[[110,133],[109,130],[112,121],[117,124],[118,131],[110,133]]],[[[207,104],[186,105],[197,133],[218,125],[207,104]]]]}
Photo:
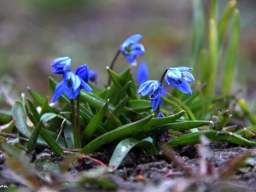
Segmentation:
{"type": "Polygon", "coordinates": [[[195,79],[188,71],[190,67],[170,67],[166,73],[166,84],[177,87],[178,90],[186,94],[192,94],[189,83],[195,82],[195,79]]]}

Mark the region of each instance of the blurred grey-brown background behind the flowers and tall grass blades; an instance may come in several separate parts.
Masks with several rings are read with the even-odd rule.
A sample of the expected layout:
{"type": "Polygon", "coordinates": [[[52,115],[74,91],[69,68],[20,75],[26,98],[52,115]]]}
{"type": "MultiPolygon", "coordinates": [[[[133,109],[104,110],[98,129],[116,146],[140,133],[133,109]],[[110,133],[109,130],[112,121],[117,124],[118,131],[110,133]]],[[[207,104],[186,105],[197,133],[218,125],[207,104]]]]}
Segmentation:
{"type": "MultiPolygon", "coordinates": [[[[207,15],[209,1],[204,3],[207,15]]],[[[218,1],[219,17],[227,3],[218,1]]],[[[256,2],[237,1],[236,7],[241,13],[241,41],[234,92],[242,88],[253,108],[256,2]]],[[[61,77],[50,73],[49,64],[60,56],[73,59],[73,71],[86,63],[99,73],[98,84],[103,87],[108,79],[106,67],[119,45],[135,33],[143,35],[146,49],[138,63],[147,62],[149,78],[160,79],[166,67],[190,66],[192,19],[191,0],[2,0],[0,88],[11,86],[11,94],[18,97],[29,86],[51,98],[48,76],[61,77]]],[[[128,66],[121,55],[114,71],[128,66]]]]}

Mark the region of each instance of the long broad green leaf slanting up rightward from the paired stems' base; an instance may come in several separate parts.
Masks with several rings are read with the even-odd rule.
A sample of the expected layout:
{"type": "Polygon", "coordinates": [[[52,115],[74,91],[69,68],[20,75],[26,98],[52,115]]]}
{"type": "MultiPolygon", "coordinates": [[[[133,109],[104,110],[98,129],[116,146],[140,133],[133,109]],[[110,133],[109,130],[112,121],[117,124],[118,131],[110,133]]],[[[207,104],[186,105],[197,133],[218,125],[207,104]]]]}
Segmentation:
{"type": "Polygon", "coordinates": [[[154,114],[148,115],[148,117],[138,120],[135,123],[127,124],[116,128],[113,131],[109,131],[100,137],[96,137],[92,142],[88,143],[84,148],[80,150],[81,154],[87,154],[96,151],[101,147],[102,144],[111,143],[117,139],[121,139],[122,137],[130,136],[138,131],[143,131],[143,125],[146,125],[154,114]]]}

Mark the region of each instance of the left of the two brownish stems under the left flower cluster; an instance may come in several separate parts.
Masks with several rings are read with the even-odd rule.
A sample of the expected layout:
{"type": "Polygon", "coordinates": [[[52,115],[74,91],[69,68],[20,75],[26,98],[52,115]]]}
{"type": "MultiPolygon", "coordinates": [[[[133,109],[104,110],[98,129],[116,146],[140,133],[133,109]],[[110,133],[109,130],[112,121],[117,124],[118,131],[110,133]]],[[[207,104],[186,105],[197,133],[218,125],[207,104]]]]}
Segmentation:
{"type": "Polygon", "coordinates": [[[70,100],[70,107],[71,107],[71,122],[72,122],[72,129],[73,129],[73,142],[75,148],[80,148],[80,140],[79,140],[79,132],[77,129],[77,118],[75,113],[75,107],[74,107],[74,100],[70,100]]]}

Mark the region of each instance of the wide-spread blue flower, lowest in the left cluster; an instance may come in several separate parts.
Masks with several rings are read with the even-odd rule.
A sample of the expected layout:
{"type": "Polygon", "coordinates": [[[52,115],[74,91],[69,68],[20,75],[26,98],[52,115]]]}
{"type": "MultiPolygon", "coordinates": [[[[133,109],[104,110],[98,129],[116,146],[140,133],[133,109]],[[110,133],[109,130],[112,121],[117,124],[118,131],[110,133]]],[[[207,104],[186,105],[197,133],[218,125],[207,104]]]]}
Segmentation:
{"type": "Polygon", "coordinates": [[[55,102],[62,94],[66,94],[69,99],[75,99],[83,89],[92,92],[90,86],[84,82],[78,75],[72,72],[63,74],[63,80],[56,85],[52,102],[55,102]]]}

